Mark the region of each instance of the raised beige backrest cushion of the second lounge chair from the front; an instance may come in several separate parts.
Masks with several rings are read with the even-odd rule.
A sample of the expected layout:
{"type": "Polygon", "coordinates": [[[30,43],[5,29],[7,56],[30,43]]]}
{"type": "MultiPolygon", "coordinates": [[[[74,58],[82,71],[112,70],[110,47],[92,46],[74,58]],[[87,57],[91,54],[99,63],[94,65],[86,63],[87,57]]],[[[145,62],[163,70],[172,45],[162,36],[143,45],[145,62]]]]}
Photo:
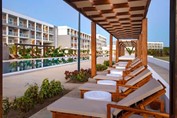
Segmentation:
{"type": "MultiPolygon", "coordinates": [[[[146,69],[131,80],[129,80],[126,85],[135,85],[136,83],[140,82],[141,80],[145,79],[146,77],[150,76],[152,73],[150,70],[146,69]]],[[[126,91],[128,88],[123,88],[122,91],[126,91]]]]}

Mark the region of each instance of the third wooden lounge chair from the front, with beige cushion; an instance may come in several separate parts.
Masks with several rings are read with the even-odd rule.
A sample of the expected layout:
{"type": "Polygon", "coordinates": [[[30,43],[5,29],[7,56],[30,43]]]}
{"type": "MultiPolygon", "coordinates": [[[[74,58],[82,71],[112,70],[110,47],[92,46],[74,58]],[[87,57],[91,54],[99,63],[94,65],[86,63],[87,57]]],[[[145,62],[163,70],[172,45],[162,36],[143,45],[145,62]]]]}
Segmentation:
{"type": "Polygon", "coordinates": [[[125,82],[129,81],[130,79],[132,79],[133,77],[135,77],[136,75],[138,75],[139,73],[141,73],[146,68],[147,68],[147,66],[140,66],[139,68],[137,68],[134,71],[127,74],[126,76],[123,75],[123,77],[111,77],[111,76],[106,76],[106,75],[96,75],[95,77],[93,77],[93,79],[95,79],[96,81],[113,80],[113,81],[116,81],[117,83],[125,83],[125,82]]]}

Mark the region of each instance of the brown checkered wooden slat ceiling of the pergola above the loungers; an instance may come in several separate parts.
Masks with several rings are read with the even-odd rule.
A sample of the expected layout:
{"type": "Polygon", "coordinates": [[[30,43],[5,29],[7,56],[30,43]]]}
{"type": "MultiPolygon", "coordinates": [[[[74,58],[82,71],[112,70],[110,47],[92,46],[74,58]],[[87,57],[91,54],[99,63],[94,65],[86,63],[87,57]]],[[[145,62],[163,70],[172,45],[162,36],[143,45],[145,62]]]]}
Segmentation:
{"type": "Polygon", "coordinates": [[[64,0],[117,39],[137,39],[150,0],[64,0]]]}

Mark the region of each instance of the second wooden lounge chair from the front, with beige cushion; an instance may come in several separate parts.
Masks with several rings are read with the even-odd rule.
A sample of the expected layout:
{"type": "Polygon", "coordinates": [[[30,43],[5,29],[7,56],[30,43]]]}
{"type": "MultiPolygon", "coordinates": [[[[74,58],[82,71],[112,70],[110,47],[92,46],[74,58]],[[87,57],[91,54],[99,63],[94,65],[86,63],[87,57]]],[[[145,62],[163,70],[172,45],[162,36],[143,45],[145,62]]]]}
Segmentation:
{"type": "Polygon", "coordinates": [[[118,99],[126,97],[128,94],[147,83],[151,78],[152,73],[146,69],[125,84],[117,84],[117,86],[85,83],[79,87],[80,96],[83,98],[85,92],[99,90],[111,93],[112,100],[117,101],[118,99]]]}

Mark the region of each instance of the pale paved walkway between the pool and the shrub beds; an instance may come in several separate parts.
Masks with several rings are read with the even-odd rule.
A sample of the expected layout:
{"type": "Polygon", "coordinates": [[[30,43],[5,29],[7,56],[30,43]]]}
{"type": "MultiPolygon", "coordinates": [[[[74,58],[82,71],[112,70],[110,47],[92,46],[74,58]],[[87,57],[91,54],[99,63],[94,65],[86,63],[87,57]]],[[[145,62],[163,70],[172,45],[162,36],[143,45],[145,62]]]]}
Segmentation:
{"type": "MultiPolygon", "coordinates": [[[[99,57],[97,58],[97,63],[102,64],[104,60],[108,60],[108,58],[99,57]]],[[[91,68],[91,61],[81,62],[81,68],[91,68]]],[[[3,77],[3,97],[14,98],[22,96],[26,88],[28,88],[27,84],[37,83],[40,85],[45,78],[49,80],[59,80],[66,89],[73,89],[71,85],[65,85],[66,80],[64,73],[66,70],[77,70],[77,63],[3,77]]]]}

